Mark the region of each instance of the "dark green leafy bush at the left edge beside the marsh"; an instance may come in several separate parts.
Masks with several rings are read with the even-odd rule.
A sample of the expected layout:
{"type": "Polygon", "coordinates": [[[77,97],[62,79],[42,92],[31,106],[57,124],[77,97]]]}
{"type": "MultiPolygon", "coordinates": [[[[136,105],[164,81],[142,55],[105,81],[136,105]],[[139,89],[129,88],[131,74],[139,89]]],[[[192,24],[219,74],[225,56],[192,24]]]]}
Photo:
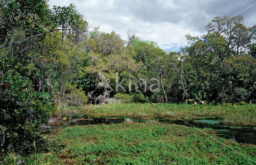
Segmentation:
{"type": "MultiPolygon", "coordinates": [[[[28,78],[13,70],[14,61],[2,58],[0,63],[0,155],[19,151],[41,138],[39,130],[48,123],[55,110],[39,99],[28,78]]],[[[40,141],[42,143],[42,141],[40,141]]],[[[23,150],[27,152],[30,146],[23,150]]]]}

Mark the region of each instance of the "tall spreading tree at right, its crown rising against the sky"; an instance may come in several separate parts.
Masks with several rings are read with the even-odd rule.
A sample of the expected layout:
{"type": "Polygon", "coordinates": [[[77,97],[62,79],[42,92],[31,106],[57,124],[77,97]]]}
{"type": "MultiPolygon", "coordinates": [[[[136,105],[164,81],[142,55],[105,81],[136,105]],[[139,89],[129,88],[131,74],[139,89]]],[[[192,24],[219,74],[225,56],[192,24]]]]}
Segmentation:
{"type": "Polygon", "coordinates": [[[247,53],[254,56],[254,27],[246,28],[242,16],[225,16],[215,17],[206,30],[208,33],[201,37],[186,36],[191,45],[183,49],[183,53],[188,54],[185,62],[189,72],[185,74],[191,80],[188,97],[208,101],[248,101],[254,91],[254,72],[250,72],[251,80],[249,77],[244,79],[250,83],[236,81],[240,74],[234,73],[239,71],[245,76],[252,71],[252,68],[243,68],[242,65],[252,66],[254,63],[247,56],[247,53]],[[231,68],[236,69],[228,72],[231,68]]]}

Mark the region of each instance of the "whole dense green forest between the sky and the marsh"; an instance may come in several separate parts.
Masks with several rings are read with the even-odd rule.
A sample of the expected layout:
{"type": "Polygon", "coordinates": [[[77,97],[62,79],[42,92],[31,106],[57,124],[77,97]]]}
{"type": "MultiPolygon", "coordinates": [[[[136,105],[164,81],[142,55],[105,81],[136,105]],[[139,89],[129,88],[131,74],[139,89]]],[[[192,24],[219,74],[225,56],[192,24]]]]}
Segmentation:
{"type": "MultiPolygon", "coordinates": [[[[76,6],[0,1],[1,154],[40,138],[56,109],[103,103],[254,103],[256,26],[215,17],[188,46],[164,52],[94,27],[76,6]]],[[[30,146],[24,151],[29,150],[30,146]]]]}

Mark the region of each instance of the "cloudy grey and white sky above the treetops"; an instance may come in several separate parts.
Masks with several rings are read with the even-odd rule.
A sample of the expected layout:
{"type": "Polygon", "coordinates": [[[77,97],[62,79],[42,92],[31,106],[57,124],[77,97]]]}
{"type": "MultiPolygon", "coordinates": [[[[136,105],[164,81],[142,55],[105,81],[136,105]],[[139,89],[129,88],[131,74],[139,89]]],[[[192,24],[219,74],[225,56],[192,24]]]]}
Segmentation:
{"type": "MultiPolygon", "coordinates": [[[[255,0],[49,0],[50,6],[74,3],[80,14],[100,31],[114,30],[124,40],[128,28],[137,36],[153,40],[166,51],[184,46],[184,35],[201,35],[215,16],[234,16],[255,0]]],[[[244,24],[256,24],[256,4],[238,15],[244,24]]]]}

